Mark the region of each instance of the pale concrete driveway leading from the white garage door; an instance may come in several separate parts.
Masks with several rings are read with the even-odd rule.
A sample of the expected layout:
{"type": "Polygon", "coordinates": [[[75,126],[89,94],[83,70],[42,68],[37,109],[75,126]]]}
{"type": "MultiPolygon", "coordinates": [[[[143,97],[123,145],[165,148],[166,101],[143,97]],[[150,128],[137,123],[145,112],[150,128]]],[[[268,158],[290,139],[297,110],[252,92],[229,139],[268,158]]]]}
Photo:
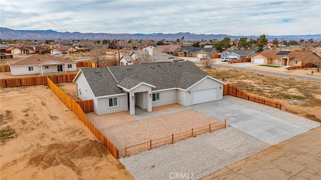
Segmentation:
{"type": "Polygon", "coordinates": [[[309,130],[306,127],[226,100],[193,105],[193,109],[214,119],[223,120],[226,118],[228,125],[271,145],[309,130]]]}

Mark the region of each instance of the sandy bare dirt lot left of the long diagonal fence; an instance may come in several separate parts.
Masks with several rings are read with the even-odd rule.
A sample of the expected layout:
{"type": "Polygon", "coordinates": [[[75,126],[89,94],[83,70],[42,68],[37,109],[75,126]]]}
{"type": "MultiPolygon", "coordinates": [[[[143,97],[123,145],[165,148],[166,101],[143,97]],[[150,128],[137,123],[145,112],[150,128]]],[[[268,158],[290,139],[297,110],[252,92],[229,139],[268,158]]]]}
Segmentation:
{"type": "Polygon", "coordinates": [[[0,96],[1,179],[133,179],[50,89],[0,96]]]}

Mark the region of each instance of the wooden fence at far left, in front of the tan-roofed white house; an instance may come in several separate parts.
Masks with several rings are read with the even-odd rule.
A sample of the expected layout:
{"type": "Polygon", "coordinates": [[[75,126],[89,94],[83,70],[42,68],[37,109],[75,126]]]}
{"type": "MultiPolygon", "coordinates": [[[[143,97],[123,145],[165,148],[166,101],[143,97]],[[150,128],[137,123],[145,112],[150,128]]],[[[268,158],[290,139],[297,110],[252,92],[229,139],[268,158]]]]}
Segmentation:
{"type": "Polygon", "coordinates": [[[48,76],[31,76],[20,78],[0,79],[0,87],[20,87],[20,86],[37,86],[47,84],[47,77],[54,83],[69,83],[76,77],[73,74],[55,74],[48,76]]]}

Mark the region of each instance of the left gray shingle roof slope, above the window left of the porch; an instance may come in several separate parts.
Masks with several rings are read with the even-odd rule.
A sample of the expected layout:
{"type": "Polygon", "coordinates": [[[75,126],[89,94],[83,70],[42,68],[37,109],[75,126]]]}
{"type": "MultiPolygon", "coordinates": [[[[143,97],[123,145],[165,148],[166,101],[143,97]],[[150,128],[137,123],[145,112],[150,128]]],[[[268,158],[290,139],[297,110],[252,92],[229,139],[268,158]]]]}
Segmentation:
{"type": "Polygon", "coordinates": [[[107,68],[81,69],[95,97],[121,94],[124,91],[117,87],[116,80],[107,68]]]}

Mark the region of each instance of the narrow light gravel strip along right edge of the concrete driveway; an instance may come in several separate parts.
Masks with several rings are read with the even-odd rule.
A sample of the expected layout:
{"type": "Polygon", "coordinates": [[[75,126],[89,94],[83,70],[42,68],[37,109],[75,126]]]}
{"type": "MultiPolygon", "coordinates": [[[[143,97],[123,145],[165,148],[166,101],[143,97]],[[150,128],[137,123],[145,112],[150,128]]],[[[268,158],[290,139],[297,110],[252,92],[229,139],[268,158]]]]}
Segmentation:
{"type": "Polygon", "coordinates": [[[266,106],[263,104],[259,104],[259,103],[255,103],[252,101],[248,101],[248,100],[244,100],[241,98],[237,98],[237,97],[233,97],[233,96],[224,96],[223,97],[224,100],[229,101],[229,102],[233,102],[235,104],[238,105],[242,105],[251,109],[255,109],[264,113],[267,113],[269,115],[272,115],[274,117],[277,117],[279,119],[282,119],[284,121],[290,122],[292,124],[301,126],[301,127],[305,127],[307,129],[313,129],[315,127],[320,126],[320,123],[300,117],[300,116],[296,116],[294,114],[285,112],[285,111],[281,111],[277,108],[273,108],[270,106],[266,106]]]}

